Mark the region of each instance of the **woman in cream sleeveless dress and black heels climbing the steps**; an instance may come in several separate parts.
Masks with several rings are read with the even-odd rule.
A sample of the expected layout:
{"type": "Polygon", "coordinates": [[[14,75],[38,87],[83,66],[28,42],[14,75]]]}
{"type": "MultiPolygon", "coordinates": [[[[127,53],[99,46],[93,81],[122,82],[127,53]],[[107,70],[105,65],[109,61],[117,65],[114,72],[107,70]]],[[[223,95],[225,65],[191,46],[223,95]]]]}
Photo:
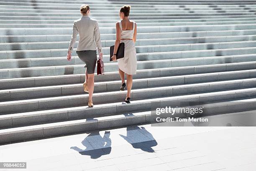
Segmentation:
{"type": "Polygon", "coordinates": [[[135,22],[128,19],[130,13],[130,6],[123,6],[120,9],[119,15],[121,21],[116,23],[116,40],[115,48],[113,54],[113,61],[116,60],[116,52],[120,43],[125,43],[125,53],[124,57],[117,59],[118,70],[120,78],[122,80],[122,85],[120,90],[125,90],[125,73],[127,78],[127,94],[125,98],[126,103],[131,101],[131,88],[133,85],[133,74],[136,74],[137,70],[137,58],[136,58],[136,48],[135,42],[137,37],[137,25],[135,22]]]}

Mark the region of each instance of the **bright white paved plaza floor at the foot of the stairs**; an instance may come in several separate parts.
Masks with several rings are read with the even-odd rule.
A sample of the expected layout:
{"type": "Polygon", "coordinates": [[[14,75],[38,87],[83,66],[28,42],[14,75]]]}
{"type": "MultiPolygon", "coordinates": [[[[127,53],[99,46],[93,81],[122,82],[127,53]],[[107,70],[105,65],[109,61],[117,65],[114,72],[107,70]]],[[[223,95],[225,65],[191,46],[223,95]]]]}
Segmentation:
{"type": "Polygon", "coordinates": [[[135,125],[2,145],[0,161],[29,171],[255,171],[256,131],[135,125]]]}

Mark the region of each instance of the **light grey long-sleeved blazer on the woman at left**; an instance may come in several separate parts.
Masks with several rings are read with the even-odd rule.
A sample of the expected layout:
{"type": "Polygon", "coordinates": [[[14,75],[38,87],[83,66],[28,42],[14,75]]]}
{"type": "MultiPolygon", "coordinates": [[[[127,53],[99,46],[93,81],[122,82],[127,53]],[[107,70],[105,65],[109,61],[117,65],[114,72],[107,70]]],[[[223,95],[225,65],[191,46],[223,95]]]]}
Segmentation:
{"type": "Polygon", "coordinates": [[[71,52],[73,52],[74,44],[77,40],[77,33],[79,33],[77,51],[96,50],[97,46],[100,53],[103,53],[100,42],[100,29],[97,20],[84,15],[80,19],[74,21],[73,34],[69,44],[69,51],[71,52]]]}

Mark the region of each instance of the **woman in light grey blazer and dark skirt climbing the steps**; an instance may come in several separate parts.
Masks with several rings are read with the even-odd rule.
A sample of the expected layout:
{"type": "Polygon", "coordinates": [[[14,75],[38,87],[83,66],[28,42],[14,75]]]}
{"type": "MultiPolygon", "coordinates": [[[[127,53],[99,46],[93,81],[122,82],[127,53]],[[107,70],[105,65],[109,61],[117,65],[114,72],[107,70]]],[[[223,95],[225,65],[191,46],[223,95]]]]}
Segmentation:
{"type": "Polygon", "coordinates": [[[82,17],[74,21],[73,34],[71,37],[67,59],[71,60],[71,52],[73,52],[74,44],[79,33],[79,41],[77,44],[77,55],[86,65],[85,82],[83,84],[84,91],[89,92],[88,106],[93,107],[92,94],[94,91],[94,72],[97,62],[96,47],[102,58],[102,46],[100,42],[100,29],[97,20],[89,17],[90,7],[83,4],[80,7],[82,17]]]}

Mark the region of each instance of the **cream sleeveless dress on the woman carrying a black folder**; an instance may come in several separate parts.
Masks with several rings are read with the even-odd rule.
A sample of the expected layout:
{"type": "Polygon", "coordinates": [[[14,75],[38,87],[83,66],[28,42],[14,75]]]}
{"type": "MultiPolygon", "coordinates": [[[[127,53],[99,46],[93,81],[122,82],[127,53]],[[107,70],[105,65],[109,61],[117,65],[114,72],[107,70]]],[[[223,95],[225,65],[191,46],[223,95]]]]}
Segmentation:
{"type": "MultiPolygon", "coordinates": [[[[133,30],[123,30],[121,21],[119,21],[119,26],[121,29],[121,39],[133,39],[135,22],[133,22],[133,30]]],[[[121,43],[122,42],[125,43],[125,53],[123,58],[117,59],[118,67],[126,74],[134,75],[136,74],[136,70],[137,70],[137,57],[136,57],[135,44],[133,40],[121,40],[121,43]]]]}

